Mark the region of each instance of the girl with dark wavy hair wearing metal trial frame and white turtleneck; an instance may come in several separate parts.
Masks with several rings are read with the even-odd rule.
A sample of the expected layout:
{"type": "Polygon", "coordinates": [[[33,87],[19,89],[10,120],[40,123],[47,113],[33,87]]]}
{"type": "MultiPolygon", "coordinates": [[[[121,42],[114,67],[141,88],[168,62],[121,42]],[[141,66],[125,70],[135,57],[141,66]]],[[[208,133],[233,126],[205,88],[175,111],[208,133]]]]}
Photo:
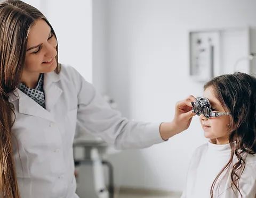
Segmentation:
{"type": "Polygon", "coordinates": [[[256,79],[245,73],[218,76],[192,105],[210,140],[193,154],[182,197],[254,198],[256,79]]]}

